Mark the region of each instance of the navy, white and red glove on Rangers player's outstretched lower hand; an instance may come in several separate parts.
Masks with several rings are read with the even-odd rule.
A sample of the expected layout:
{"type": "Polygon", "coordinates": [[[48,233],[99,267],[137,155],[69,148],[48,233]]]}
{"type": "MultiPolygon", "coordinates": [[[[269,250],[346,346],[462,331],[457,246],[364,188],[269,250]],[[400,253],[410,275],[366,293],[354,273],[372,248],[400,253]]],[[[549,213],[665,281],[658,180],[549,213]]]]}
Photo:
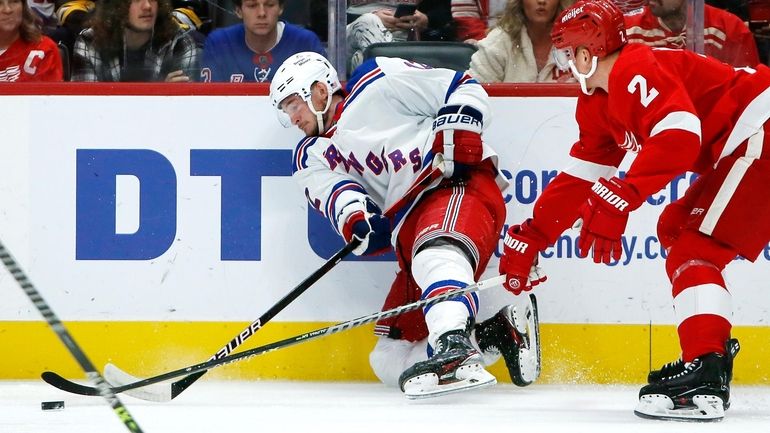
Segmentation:
{"type": "Polygon", "coordinates": [[[353,250],[357,256],[376,255],[390,247],[390,221],[369,198],[345,205],[337,218],[342,222],[342,237],[346,242],[358,239],[361,244],[353,250]]]}

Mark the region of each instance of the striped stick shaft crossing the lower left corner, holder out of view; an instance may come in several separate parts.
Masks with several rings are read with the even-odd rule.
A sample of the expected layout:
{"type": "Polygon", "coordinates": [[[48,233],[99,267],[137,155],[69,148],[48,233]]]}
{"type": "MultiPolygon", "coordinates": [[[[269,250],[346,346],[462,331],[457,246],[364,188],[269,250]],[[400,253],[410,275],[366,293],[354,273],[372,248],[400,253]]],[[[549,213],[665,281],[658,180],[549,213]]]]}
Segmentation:
{"type": "Polygon", "coordinates": [[[118,399],[118,396],[112,392],[112,389],[110,389],[107,382],[104,381],[102,375],[99,374],[99,372],[96,370],[94,364],[90,359],[88,359],[85,352],[83,352],[80,346],[75,342],[75,339],[72,338],[72,335],[70,335],[69,331],[67,331],[67,328],[64,327],[64,324],[61,322],[61,320],[59,320],[58,316],[56,316],[45,299],[43,299],[43,297],[40,295],[40,292],[37,291],[35,286],[27,277],[27,274],[24,273],[24,271],[21,269],[19,264],[16,262],[16,259],[14,259],[11,255],[10,251],[5,248],[5,245],[2,243],[2,241],[0,241],[0,260],[3,261],[5,268],[8,269],[8,272],[11,273],[13,278],[19,284],[19,287],[24,290],[24,293],[27,295],[29,300],[32,301],[32,303],[35,305],[35,308],[37,308],[45,321],[48,323],[48,326],[51,327],[53,332],[56,333],[56,336],[59,337],[59,340],[61,340],[70,354],[72,354],[72,357],[75,358],[75,361],[77,361],[77,363],[80,365],[80,368],[83,369],[91,382],[96,385],[94,388],[92,388],[96,392],[95,395],[100,395],[105,400],[107,400],[107,403],[110,405],[110,407],[112,407],[115,415],[120,418],[120,420],[123,422],[123,424],[126,425],[126,428],[129,431],[133,433],[142,433],[142,429],[139,427],[139,424],[137,424],[136,420],[134,420],[134,417],[131,416],[131,413],[128,411],[128,409],[123,406],[123,403],[121,403],[120,399],[118,399]]]}

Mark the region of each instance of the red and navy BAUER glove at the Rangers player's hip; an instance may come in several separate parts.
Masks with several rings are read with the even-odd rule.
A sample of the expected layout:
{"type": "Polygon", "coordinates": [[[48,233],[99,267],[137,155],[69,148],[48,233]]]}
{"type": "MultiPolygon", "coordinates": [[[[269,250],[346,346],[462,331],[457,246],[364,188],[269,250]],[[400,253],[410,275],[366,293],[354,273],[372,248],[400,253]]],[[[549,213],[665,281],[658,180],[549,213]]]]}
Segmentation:
{"type": "Polygon", "coordinates": [[[433,153],[444,156],[444,177],[452,177],[455,163],[477,165],[481,162],[483,125],[481,112],[469,105],[447,105],[439,110],[433,120],[433,153]]]}

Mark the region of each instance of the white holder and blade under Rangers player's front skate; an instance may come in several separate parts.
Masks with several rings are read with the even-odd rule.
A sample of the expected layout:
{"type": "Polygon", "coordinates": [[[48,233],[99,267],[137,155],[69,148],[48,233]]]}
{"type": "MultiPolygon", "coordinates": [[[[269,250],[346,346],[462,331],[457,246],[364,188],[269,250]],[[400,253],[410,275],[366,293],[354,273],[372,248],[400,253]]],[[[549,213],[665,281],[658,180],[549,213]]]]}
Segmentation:
{"type": "Polygon", "coordinates": [[[497,379],[480,364],[463,365],[456,374],[459,378],[457,381],[445,384],[439,384],[435,373],[415,376],[404,384],[404,395],[409,400],[418,400],[486,388],[497,383],[497,379]]]}

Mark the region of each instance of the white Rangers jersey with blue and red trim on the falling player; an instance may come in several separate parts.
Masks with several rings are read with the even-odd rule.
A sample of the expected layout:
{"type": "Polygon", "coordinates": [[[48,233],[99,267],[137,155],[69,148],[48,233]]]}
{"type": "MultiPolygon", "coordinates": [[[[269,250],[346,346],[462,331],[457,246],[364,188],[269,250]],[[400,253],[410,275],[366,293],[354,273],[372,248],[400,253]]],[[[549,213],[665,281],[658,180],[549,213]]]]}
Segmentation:
{"type": "MultiPolygon", "coordinates": [[[[405,194],[432,171],[432,122],[439,109],[470,105],[482,113],[486,127],[488,96],[470,75],[387,57],[357,68],[346,91],[334,126],[297,145],[293,176],[338,233],[344,223],[338,226],[340,210],[369,196],[391,218],[395,239],[417,199],[404,200],[405,194]]],[[[497,154],[486,143],[483,157],[497,168],[497,154]]],[[[497,183],[501,190],[507,187],[499,171],[497,183]]]]}

